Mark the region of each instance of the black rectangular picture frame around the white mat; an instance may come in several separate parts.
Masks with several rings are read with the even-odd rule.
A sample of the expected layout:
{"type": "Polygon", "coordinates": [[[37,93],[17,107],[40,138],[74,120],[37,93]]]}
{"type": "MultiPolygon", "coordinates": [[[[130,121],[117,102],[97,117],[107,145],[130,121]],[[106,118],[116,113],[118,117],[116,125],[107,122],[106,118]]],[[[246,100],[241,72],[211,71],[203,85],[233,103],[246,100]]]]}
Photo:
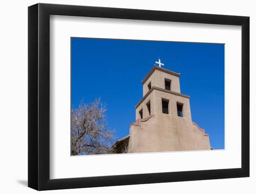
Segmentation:
{"type": "Polygon", "coordinates": [[[249,176],[249,17],[107,7],[36,4],[28,7],[28,187],[102,187],[249,176]],[[50,175],[50,15],[242,26],[242,167],[218,170],[53,179],[50,175]]]}

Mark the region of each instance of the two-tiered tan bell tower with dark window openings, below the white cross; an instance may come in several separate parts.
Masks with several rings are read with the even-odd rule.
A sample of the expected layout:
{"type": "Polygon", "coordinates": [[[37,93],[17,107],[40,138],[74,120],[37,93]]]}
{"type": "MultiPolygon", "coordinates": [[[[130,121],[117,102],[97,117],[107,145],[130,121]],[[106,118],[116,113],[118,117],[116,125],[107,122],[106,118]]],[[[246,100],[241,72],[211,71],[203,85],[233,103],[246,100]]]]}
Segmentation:
{"type": "Polygon", "coordinates": [[[143,97],[136,108],[136,120],[150,114],[178,114],[183,119],[191,120],[189,96],[181,94],[180,77],[170,70],[154,66],[142,80],[143,97]],[[177,103],[177,104],[175,104],[177,103]]]}

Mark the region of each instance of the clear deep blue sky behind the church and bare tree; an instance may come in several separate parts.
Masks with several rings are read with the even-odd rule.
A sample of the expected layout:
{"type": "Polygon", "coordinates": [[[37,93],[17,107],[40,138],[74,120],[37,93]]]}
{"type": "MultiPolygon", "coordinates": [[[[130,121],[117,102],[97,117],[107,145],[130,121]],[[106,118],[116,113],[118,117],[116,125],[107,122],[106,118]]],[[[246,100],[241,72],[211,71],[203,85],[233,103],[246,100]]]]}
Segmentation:
{"type": "Polygon", "coordinates": [[[141,80],[160,57],[181,73],[181,93],[190,95],[192,120],[224,149],[224,45],[167,41],[71,38],[72,106],[101,97],[116,139],[129,134],[141,80]]]}

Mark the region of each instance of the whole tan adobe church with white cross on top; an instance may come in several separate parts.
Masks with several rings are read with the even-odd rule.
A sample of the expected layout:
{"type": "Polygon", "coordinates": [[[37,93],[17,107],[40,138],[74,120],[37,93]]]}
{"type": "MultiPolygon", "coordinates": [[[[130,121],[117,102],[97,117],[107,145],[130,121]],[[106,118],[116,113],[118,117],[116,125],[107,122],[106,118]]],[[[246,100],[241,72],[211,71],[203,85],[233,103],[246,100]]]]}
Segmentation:
{"type": "Polygon", "coordinates": [[[113,146],[115,153],[210,150],[209,134],[191,119],[189,96],[181,93],[181,74],[159,59],[142,80],[143,97],[135,106],[136,121],[128,136],[113,146]]]}

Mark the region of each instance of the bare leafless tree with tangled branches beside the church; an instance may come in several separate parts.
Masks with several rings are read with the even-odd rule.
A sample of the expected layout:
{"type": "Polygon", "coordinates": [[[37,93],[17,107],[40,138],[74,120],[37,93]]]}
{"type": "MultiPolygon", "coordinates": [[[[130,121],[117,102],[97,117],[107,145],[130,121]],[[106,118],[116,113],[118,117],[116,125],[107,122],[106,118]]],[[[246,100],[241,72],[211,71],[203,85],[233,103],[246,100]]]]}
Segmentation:
{"type": "Polygon", "coordinates": [[[71,113],[71,155],[108,154],[114,141],[114,130],[107,127],[106,107],[100,99],[81,103],[71,113]]]}

